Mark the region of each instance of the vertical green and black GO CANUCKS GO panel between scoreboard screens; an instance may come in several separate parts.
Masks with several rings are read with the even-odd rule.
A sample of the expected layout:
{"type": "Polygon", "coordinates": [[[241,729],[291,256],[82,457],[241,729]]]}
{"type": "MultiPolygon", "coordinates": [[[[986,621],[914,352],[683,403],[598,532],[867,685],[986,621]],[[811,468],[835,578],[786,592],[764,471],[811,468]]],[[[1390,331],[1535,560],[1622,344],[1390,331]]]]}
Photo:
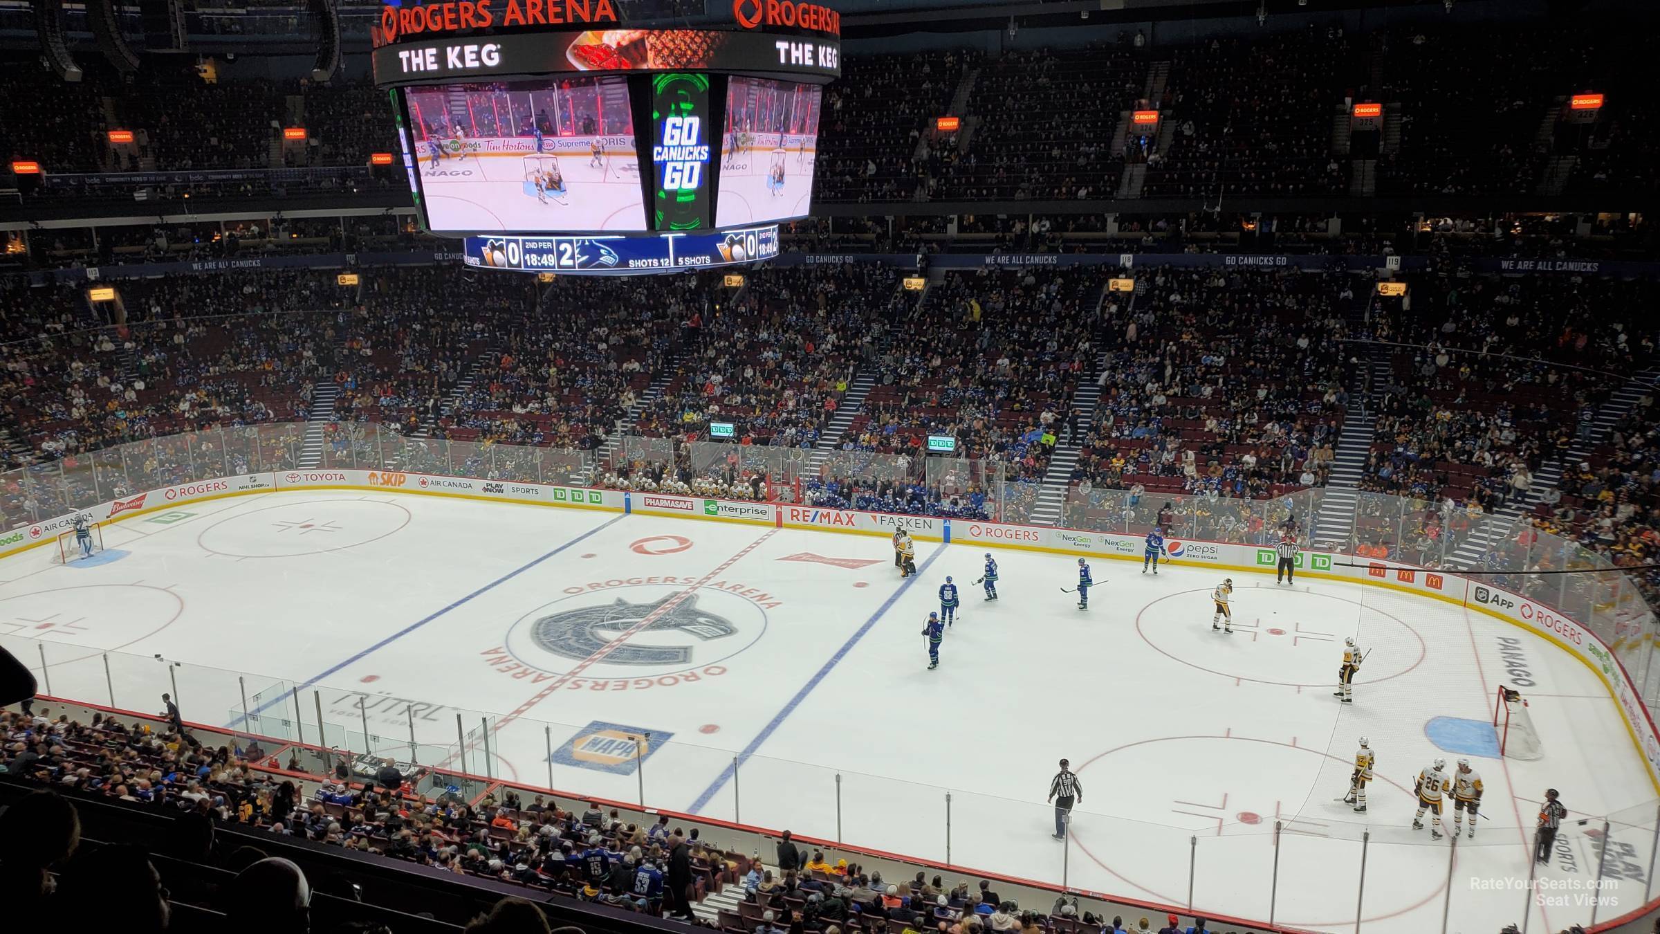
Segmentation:
{"type": "Polygon", "coordinates": [[[709,75],[651,76],[652,229],[709,228],[710,126],[709,75]]]}

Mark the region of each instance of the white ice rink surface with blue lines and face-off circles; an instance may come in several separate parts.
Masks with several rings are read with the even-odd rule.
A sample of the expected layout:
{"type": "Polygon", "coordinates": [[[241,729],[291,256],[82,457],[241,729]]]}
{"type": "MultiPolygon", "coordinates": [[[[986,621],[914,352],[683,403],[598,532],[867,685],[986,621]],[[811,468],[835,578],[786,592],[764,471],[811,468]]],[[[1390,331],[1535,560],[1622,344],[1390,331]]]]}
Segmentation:
{"type": "MultiPolygon", "coordinates": [[[[206,668],[247,673],[266,716],[304,685],[327,721],[367,715],[397,741],[422,701],[423,748],[458,745],[456,713],[471,730],[493,711],[480,730],[510,779],[546,783],[551,745],[566,791],[636,801],[642,783],[651,806],[930,861],[950,833],[956,866],[1169,904],[1187,904],[1192,864],[1195,909],[1242,917],[1268,916],[1277,871],[1275,921],[1296,927],[1353,929],[1370,834],[1366,931],[1439,929],[1449,848],[1409,828],[1433,758],[1469,756],[1486,783],[1451,866],[1452,931],[1521,921],[1547,786],[1570,821],[1539,873],[1564,881],[1595,874],[1602,814],[1655,796],[1594,671],[1378,587],[1094,560],[1079,610],[1061,592],[1076,558],[998,550],[1001,598],[983,602],[969,545],[918,542],[901,580],[876,537],[364,492],[188,504],[108,525],[105,545],[70,567],[46,548],[0,562],[0,643],[33,663],[43,642],[58,696],[106,701],[111,651],[118,691],[159,683],[153,655],[181,663],[199,723],[241,706],[206,668]],[[963,612],[930,671],[920,628],[946,575],[963,612]],[[1222,577],[1233,635],[1210,628],[1222,577]],[[1345,637],[1370,651],[1351,706],[1331,696],[1345,637]],[[1497,685],[1521,680],[1539,761],[1492,748],[1497,685]],[[644,759],[618,740],[639,731],[644,759]],[[1361,735],[1368,814],[1336,801],[1361,735]],[[1084,784],[1066,844],[1044,806],[1061,756],[1084,784]]],[[[1610,838],[1602,919],[1648,882],[1650,831],[1610,838]]],[[[1587,921],[1564,896],[1532,924],[1587,921]]]]}

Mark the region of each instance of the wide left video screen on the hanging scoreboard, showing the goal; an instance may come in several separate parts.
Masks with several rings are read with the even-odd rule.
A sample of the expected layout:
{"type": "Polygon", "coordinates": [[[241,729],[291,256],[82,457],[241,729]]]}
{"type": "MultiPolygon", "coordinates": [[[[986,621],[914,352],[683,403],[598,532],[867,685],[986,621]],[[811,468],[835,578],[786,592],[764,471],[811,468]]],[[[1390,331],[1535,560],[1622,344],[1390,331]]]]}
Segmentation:
{"type": "Polygon", "coordinates": [[[403,93],[432,231],[647,229],[626,78],[403,93]]]}

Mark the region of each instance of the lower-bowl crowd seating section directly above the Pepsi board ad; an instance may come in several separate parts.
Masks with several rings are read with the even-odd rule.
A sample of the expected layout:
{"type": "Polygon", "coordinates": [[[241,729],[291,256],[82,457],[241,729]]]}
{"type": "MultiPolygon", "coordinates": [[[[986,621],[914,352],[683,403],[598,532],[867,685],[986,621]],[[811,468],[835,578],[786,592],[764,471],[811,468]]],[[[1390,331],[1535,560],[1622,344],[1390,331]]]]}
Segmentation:
{"type": "Polygon", "coordinates": [[[1124,499],[1099,490],[1129,490],[1139,505],[1157,494],[1265,499],[1323,485],[1348,404],[1346,274],[1139,276],[1149,288],[1134,311],[1106,324],[1102,397],[1064,522],[1122,519],[1124,499]]]}

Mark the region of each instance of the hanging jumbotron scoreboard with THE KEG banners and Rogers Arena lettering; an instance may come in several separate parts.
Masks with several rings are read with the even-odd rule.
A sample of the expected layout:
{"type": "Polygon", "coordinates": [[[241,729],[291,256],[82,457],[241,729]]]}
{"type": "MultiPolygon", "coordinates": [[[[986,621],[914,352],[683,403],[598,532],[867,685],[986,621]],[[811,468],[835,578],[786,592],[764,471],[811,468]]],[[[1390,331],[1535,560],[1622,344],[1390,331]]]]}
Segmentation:
{"type": "Polygon", "coordinates": [[[807,216],[840,17],[734,0],[732,22],[624,23],[613,0],[383,7],[420,223],[470,266],[642,274],[777,256],[807,216]]]}

